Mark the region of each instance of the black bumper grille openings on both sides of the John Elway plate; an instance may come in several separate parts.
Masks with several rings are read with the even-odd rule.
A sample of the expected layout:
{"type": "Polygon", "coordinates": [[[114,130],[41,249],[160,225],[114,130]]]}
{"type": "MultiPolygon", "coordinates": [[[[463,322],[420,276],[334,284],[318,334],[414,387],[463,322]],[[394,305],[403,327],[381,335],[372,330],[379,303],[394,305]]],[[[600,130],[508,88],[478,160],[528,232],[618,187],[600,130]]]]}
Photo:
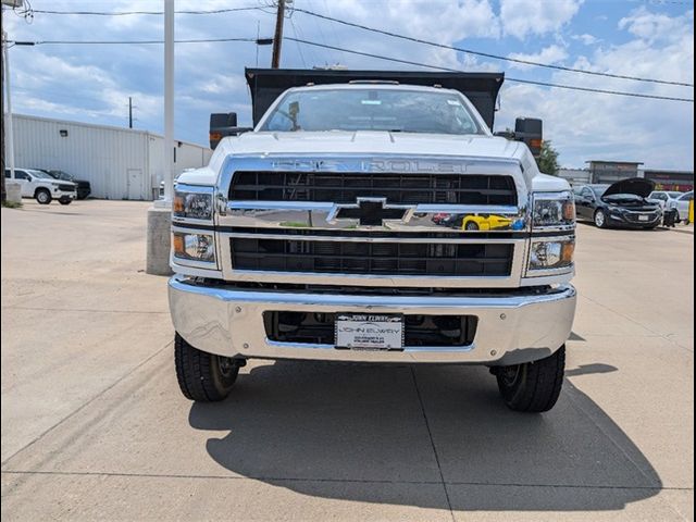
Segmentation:
{"type": "MultiPolygon", "coordinates": [[[[263,313],[270,340],[313,345],[335,345],[334,313],[263,313]]],[[[403,346],[469,346],[476,335],[475,315],[403,315],[403,346]]]]}

